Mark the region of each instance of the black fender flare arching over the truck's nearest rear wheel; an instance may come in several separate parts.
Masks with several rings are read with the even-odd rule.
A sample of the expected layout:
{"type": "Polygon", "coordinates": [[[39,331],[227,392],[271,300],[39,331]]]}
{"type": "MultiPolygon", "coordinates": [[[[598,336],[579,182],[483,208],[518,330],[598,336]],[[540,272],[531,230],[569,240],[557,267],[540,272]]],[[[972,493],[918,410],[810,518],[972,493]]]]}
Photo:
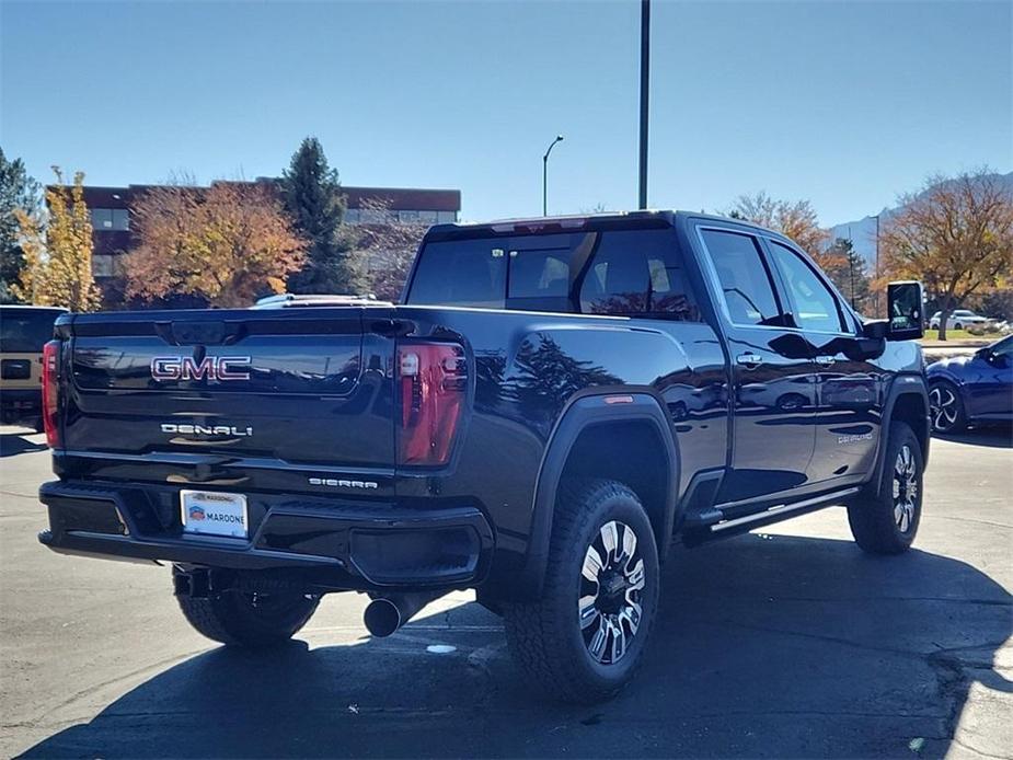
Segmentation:
{"type": "Polygon", "coordinates": [[[592,425],[623,422],[647,422],[653,425],[665,447],[669,462],[666,476],[666,499],[661,519],[652,520],[655,525],[658,543],[658,556],[664,557],[671,543],[672,529],[679,504],[679,449],[671,425],[660,403],[651,393],[611,392],[595,395],[582,395],[569,403],[560,416],[560,421],[550,435],[542,456],[534,499],[531,513],[531,529],[528,538],[528,551],[520,578],[520,592],[523,597],[538,596],[541,591],[545,567],[549,562],[549,544],[552,536],[552,520],[555,513],[555,496],[566,460],[580,434],[592,425]],[[623,395],[632,402],[607,403],[607,396],[623,395]]]}

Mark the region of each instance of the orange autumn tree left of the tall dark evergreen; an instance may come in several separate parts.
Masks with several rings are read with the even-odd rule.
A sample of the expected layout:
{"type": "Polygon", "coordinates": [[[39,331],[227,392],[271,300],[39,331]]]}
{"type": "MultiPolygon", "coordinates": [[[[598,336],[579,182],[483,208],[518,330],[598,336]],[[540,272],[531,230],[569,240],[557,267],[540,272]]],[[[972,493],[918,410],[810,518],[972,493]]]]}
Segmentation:
{"type": "Polygon", "coordinates": [[[130,224],[138,241],[126,257],[130,297],[191,295],[245,307],[284,292],[304,261],[306,242],[266,184],[154,187],[135,204],[130,224]]]}

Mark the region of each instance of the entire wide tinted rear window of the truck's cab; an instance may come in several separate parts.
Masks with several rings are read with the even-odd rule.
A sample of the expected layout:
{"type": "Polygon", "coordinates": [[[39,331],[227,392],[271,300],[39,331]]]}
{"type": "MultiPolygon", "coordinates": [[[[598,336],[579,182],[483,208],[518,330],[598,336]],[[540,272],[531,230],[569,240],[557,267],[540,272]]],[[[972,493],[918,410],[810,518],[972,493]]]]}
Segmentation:
{"type": "Polygon", "coordinates": [[[702,321],[669,228],[430,242],[405,303],[702,321]]]}

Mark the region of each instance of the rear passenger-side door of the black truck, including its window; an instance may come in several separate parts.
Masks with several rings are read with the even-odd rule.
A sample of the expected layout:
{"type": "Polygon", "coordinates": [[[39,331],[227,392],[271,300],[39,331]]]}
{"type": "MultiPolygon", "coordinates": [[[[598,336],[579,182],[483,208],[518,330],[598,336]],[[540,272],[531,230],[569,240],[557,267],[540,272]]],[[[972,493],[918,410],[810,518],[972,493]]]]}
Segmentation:
{"type": "Polygon", "coordinates": [[[718,502],[770,497],[807,483],[815,445],[810,347],[788,316],[757,235],[698,228],[732,360],[732,467],[718,502]]]}

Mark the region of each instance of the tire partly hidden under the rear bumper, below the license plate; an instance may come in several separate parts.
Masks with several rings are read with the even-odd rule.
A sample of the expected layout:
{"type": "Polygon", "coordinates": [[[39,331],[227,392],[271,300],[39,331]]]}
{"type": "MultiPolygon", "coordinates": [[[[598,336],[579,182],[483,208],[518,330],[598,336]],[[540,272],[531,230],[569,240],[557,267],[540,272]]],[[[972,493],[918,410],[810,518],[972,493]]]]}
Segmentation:
{"type": "Polygon", "coordinates": [[[264,647],[291,638],[316,611],[320,597],[292,591],[223,591],[216,597],[177,596],[176,601],[187,622],[211,641],[264,647]]]}

